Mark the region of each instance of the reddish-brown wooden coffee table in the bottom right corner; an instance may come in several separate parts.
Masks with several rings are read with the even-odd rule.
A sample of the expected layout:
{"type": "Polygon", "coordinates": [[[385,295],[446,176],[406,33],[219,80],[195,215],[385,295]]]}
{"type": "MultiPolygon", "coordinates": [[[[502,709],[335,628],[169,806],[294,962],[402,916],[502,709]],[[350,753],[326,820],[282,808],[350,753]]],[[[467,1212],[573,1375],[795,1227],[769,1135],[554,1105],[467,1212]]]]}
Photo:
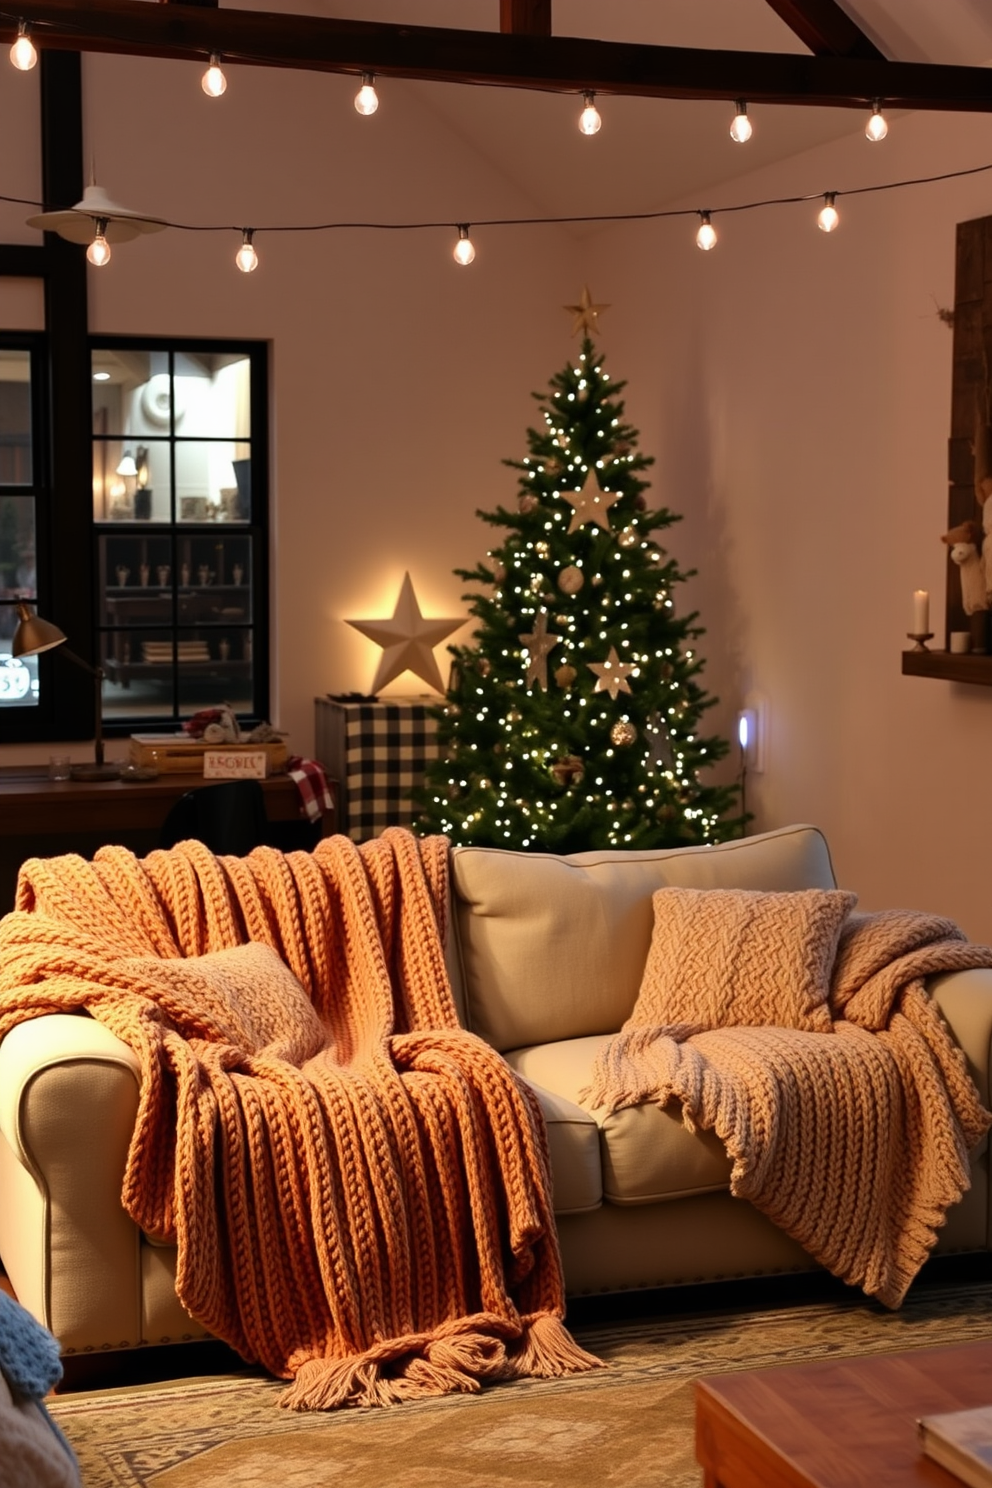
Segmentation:
{"type": "Polygon", "coordinates": [[[992,1341],[709,1375],[696,1384],[705,1488],[961,1488],[916,1418],[992,1405],[992,1341]]]}

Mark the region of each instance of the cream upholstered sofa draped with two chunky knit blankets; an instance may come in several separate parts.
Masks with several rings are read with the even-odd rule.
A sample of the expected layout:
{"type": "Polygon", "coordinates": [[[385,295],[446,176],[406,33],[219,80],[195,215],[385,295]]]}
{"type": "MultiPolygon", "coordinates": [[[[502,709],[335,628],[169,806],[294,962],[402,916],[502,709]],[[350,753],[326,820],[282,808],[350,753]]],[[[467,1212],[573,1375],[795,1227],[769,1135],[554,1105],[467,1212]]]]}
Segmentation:
{"type": "MultiPolygon", "coordinates": [[[[540,1095],[570,1295],[811,1269],[730,1196],[715,1137],[687,1132],[677,1109],[601,1116],[579,1092],[635,1001],[653,891],[828,888],[822,835],[793,826],[712,848],[573,857],[455,848],[452,885],[460,1012],[540,1095]]],[[[934,979],[933,992],[988,1104],[992,970],[934,979]]],[[[175,1298],[174,1250],[120,1207],[137,1094],[137,1059],[89,1018],[39,1018],[0,1045],[0,1259],[65,1354],[205,1336],[175,1298]]],[[[971,1165],[941,1251],[989,1248],[988,1143],[971,1165]]]]}

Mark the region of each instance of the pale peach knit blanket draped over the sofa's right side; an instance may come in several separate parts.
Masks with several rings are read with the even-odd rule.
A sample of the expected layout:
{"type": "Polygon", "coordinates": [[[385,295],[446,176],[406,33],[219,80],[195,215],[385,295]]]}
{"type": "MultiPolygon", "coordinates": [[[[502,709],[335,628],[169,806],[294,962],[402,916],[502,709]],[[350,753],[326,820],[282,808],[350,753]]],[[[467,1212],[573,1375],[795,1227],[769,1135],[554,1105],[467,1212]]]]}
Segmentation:
{"type": "MultiPolygon", "coordinates": [[[[769,946],[769,967],[784,954],[769,946]]],[[[631,1019],[583,1100],[605,1110],[680,1101],[686,1126],[726,1144],[733,1195],[834,1275],[898,1306],[992,1125],[924,987],[977,966],[992,966],[992,949],[947,920],[851,914],[830,981],[831,1033],[631,1019]]],[[[773,970],[748,995],[773,1024],[773,970]]]]}

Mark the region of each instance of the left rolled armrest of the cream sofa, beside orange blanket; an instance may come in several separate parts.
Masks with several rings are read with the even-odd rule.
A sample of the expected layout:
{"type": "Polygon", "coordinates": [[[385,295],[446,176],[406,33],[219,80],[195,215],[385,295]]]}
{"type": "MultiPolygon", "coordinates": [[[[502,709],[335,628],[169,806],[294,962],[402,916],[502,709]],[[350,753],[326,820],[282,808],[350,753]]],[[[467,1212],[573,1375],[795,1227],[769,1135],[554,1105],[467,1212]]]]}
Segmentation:
{"type": "Polygon", "coordinates": [[[141,1336],[120,1204],[137,1107],[138,1062],[92,1018],[34,1018],[0,1043],[0,1259],[65,1351],[141,1336]]]}

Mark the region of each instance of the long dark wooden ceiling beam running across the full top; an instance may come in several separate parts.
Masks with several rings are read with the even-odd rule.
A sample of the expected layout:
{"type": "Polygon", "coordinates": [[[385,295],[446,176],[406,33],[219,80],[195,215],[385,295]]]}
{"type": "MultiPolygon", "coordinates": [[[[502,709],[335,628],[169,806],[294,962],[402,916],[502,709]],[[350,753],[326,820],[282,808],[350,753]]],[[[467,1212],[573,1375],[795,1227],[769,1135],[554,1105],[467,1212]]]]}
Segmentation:
{"type": "MultiPolygon", "coordinates": [[[[992,112],[992,68],[640,46],[147,0],[18,0],[40,48],[225,61],[562,94],[992,112]]],[[[15,21],[0,22],[12,40],[15,21]]]]}

